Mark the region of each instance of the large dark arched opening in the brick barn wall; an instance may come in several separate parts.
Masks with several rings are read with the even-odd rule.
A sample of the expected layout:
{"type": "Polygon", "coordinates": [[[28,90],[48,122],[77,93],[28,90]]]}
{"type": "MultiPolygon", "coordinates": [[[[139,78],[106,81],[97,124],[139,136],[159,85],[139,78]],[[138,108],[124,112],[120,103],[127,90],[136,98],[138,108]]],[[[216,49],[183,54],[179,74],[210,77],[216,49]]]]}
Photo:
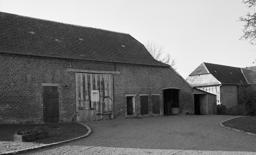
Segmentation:
{"type": "Polygon", "coordinates": [[[164,114],[179,114],[179,89],[165,89],[164,114]]]}

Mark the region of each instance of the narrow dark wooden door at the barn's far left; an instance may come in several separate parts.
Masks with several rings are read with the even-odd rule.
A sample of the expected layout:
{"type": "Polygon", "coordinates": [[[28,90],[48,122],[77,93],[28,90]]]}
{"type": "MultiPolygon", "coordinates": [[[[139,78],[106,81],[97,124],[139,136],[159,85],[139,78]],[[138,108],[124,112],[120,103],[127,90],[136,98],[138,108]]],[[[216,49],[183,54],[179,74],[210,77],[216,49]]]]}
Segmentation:
{"type": "Polygon", "coordinates": [[[59,121],[59,92],[57,86],[44,86],[43,108],[45,122],[59,121]]]}

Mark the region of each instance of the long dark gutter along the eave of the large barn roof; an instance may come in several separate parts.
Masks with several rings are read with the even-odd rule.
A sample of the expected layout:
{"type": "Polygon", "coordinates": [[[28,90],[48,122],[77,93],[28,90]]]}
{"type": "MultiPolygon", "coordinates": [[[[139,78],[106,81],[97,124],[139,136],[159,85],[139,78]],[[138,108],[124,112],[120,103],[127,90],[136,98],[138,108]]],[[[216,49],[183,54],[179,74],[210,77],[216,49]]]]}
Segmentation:
{"type": "Polygon", "coordinates": [[[119,61],[107,61],[107,60],[94,60],[94,59],[81,59],[81,58],[66,58],[60,56],[44,56],[44,55],[37,55],[37,54],[23,54],[23,53],[9,53],[9,52],[2,52],[5,54],[16,54],[16,55],[27,55],[27,56],[42,56],[42,57],[51,57],[51,58],[61,58],[61,59],[74,59],[74,60],[87,60],[87,61],[99,61],[99,62],[112,62],[112,63],[125,63],[125,64],[136,64],[136,65],[148,65],[148,66],[161,66],[161,67],[170,67],[170,65],[155,65],[155,64],[145,64],[145,63],[132,63],[132,62],[119,62],[119,61]]]}

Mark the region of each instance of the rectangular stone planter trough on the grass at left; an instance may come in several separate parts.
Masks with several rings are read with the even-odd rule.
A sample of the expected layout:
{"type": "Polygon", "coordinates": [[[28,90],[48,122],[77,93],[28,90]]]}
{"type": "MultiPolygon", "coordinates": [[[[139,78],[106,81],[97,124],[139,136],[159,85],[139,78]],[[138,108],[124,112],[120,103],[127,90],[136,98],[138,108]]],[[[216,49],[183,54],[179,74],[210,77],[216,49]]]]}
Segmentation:
{"type": "Polygon", "coordinates": [[[30,134],[25,134],[25,135],[18,135],[15,134],[13,136],[13,141],[15,142],[28,142],[34,139],[41,139],[44,137],[49,136],[49,130],[46,131],[41,131],[41,132],[36,132],[36,133],[30,133],[30,134]]]}

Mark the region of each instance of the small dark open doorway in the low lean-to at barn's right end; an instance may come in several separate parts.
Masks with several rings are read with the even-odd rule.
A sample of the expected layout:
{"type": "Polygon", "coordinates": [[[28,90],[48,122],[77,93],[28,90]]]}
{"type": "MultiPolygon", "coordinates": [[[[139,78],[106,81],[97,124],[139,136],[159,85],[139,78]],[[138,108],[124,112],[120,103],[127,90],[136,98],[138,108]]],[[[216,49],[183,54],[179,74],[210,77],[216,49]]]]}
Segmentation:
{"type": "Polygon", "coordinates": [[[194,94],[195,115],[209,114],[208,94],[194,94]]]}

